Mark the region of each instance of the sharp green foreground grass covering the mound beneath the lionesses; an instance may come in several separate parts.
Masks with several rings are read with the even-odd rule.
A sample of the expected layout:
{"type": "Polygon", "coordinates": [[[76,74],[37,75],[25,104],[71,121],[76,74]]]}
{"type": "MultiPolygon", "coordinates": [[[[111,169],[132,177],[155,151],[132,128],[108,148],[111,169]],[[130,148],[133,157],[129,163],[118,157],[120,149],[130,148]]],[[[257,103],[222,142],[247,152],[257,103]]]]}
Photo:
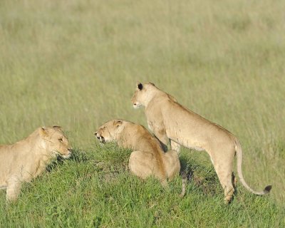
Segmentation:
{"type": "MultiPolygon", "coordinates": [[[[223,204],[222,188],[209,162],[182,151],[192,167],[183,199],[180,177],[164,189],[125,169],[129,150],[115,145],[76,150],[31,184],[14,204],[0,204],[1,227],[284,227],[284,209],[271,197],[238,188],[232,204],[223,204]],[[199,181],[197,181],[199,177],[199,181]]],[[[4,195],[0,197],[4,202],[4,195]]]]}

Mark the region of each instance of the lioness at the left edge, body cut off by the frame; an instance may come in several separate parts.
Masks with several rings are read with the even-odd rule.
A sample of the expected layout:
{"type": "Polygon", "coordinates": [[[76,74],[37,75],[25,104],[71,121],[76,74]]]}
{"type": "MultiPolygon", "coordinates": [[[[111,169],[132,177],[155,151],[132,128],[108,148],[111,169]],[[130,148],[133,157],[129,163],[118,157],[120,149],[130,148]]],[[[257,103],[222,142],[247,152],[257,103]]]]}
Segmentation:
{"type": "Polygon", "coordinates": [[[71,150],[58,126],[38,128],[14,145],[0,145],[0,189],[6,189],[6,199],[14,201],[22,182],[29,182],[40,175],[56,155],[70,157],[71,150]]]}

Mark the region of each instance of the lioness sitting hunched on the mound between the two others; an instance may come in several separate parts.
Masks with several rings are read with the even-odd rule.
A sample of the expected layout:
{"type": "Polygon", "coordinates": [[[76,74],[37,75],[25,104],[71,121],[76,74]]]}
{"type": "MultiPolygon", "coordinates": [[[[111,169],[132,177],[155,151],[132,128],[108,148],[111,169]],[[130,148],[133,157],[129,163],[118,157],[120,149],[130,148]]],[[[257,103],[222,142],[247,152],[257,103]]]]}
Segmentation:
{"type": "MultiPolygon", "coordinates": [[[[142,125],[126,120],[110,120],[104,123],[95,136],[100,142],[117,142],[118,146],[134,150],[130,154],[129,168],[134,175],[145,179],[150,176],[160,180],[163,186],[180,172],[180,160],[175,150],[164,152],[160,142],[142,125]]],[[[185,180],[182,193],[185,194],[185,180]]]]}

